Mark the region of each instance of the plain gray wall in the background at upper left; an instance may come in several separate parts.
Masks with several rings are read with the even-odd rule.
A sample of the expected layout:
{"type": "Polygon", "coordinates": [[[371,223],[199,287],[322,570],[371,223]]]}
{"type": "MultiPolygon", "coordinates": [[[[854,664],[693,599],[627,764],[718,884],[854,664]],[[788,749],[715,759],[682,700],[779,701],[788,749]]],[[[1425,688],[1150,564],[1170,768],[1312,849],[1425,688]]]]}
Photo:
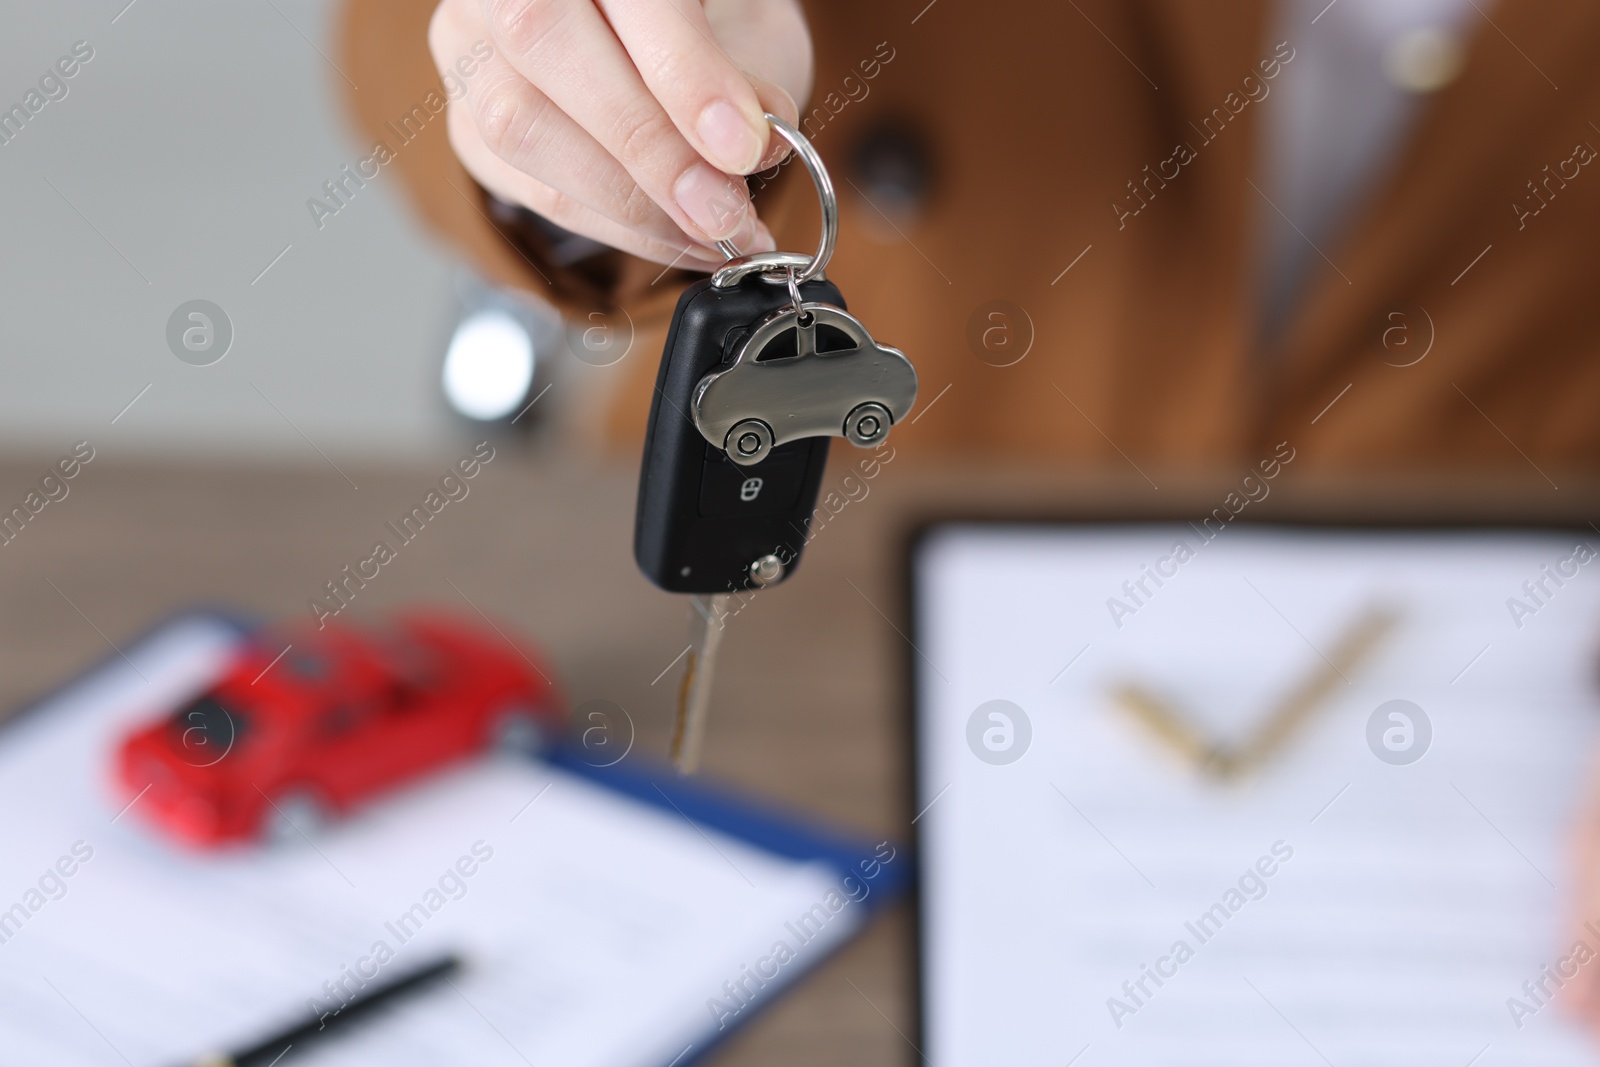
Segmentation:
{"type": "Polygon", "coordinates": [[[0,144],[0,450],[88,437],[130,456],[320,462],[307,438],[362,459],[453,446],[466,429],[438,389],[451,261],[406,218],[394,174],[322,230],[306,206],[362,155],[334,3],[125,5],[0,3],[3,109],[74,42],[94,50],[0,144]],[[211,366],[166,344],[195,298],[235,330],[211,366]]]}

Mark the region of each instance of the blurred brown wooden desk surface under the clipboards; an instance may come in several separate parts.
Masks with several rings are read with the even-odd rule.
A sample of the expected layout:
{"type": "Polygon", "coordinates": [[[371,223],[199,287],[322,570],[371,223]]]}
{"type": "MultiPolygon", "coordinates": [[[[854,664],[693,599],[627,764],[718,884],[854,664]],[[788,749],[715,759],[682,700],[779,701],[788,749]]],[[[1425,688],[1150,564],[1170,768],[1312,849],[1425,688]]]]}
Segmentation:
{"type": "MultiPolygon", "coordinates": [[[[621,704],[638,749],[667,747],[683,601],[632,563],[632,464],[576,469],[501,454],[379,577],[350,614],[408,605],[478,608],[544,648],[573,705],[621,704]],[[466,601],[470,598],[470,606],[466,601]]],[[[851,461],[850,450],[840,450],[851,461]]],[[[50,458],[0,464],[0,501],[21,501],[50,458]]],[[[10,544],[0,545],[0,707],[16,707],[110,653],[154,619],[197,603],[262,617],[309,617],[307,600],[365,558],[445,474],[325,464],[118,466],[102,456],[10,544]]],[[[843,477],[830,470],[826,486],[843,477]]],[[[1157,475],[1160,472],[1155,472],[1157,475]]],[[[1165,482],[1165,478],[1158,478],[1165,482]]],[[[1082,510],[1203,515],[1230,488],[1216,478],[1179,491],[1083,482],[1043,472],[885,467],[867,496],[816,536],[798,579],[755,598],[730,625],[712,702],[704,773],[862,833],[907,837],[906,629],[901,537],[912,517],[970,510],[1082,510]]],[[[1437,482],[1432,483],[1440,493],[1437,482]]],[[[1445,510],[1550,517],[1592,493],[1512,478],[1446,491],[1445,510]]],[[[856,491],[859,496],[859,490],[856,491]]],[[[1282,486],[1258,514],[1427,514],[1406,486],[1282,486]],[[1270,509],[1269,509],[1270,504],[1270,509]]],[[[886,915],[730,1041],[717,1064],[894,1064],[910,1049],[910,917],[886,915]]]]}

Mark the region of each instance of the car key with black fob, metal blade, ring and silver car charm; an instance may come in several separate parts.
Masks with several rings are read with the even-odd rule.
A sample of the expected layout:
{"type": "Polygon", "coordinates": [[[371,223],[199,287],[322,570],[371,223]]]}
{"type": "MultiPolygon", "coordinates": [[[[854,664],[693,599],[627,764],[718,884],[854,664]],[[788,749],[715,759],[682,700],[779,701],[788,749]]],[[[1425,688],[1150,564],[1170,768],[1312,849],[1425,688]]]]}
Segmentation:
{"type": "Polygon", "coordinates": [[[877,344],[822,277],[838,234],[834,186],[798,130],[768,115],[818,187],[814,256],[738,256],[678,299],[656,376],[634,557],[650,581],[694,593],[672,755],[693,771],[728,597],[789,577],[832,437],[880,445],[917,400],[917,371],[877,344]]]}

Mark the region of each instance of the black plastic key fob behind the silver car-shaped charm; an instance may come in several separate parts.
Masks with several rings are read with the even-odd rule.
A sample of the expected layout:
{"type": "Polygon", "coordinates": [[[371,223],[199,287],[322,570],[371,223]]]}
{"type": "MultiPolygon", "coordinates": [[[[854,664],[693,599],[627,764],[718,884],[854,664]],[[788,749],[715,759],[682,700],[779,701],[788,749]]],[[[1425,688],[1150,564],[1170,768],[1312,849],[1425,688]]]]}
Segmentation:
{"type": "MultiPolygon", "coordinates": [[[[800,296],[806,304],[845,307],[826,280],[802,283],[800,296]]],[[[733,363],[758,323],[792,306],[787,285],[760,275],[730,288],[706,278],[678,299],[650,405],[634,522],[634,558],[667,592],[770,585],[800,561],[829,437],[768,442],[760,461],[736,464],[726,443],[710,443],[693,414],[706,376],[733,363]]],[[[794,342],[787,354],[795,354],[794,342]]]]}

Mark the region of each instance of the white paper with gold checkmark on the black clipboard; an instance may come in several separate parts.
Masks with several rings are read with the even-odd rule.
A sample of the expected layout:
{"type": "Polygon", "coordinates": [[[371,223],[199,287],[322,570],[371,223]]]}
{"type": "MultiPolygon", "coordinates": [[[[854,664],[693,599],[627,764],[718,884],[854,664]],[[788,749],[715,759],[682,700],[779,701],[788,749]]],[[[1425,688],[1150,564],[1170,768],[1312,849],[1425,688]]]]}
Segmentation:
{"type": "Polygon", "coordinates": [[[1600,1062],[1538,995],[1546,966],[1574,966],[1568,848],[1600,717],[1595,545],[936,531],[914,633],[928,1061],[1600,1062]],[[1398,613],[1395,629],[1238,781],[1210,779],[1112,697],[1134,681],[1237,744],[1374,605],[1398,613]],[[1022,709],[1014,761],[998,760],[1022,723],[986,717],[997,733],[973,741],[989,701],[1022,709]],[[1416,750],[1414,715],[1386,713],[1370,742],[1389,701],[1422,709],[1416,761],[1392,761],[1416,750]]]}

